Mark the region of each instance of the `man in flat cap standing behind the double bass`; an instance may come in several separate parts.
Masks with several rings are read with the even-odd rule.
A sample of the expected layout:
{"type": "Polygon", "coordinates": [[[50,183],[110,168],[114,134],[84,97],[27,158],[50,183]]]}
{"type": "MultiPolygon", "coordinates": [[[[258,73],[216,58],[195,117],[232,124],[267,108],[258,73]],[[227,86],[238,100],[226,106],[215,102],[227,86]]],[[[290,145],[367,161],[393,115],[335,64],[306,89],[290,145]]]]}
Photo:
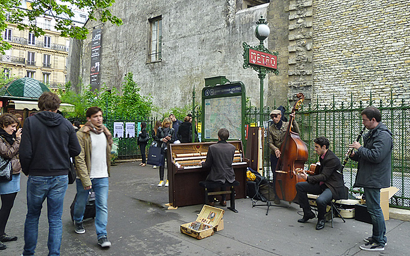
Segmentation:
{"type": "MultiPolygon", "coordinates": [[[[280,157],[280,147],[282,146],[286,130],[288,129],[289,122],[284,122],[282,120],[282,113],[280,110],[273,110],[270,114],[272,121],[271,125],[268,127],[268,145],[271,149],[271,168],[273,173],[273,184],[276,182],[276,164],[280,157]]],[[[295,113],[291,114],[292,117],[295,117],[295,113]]],[[[292,131],[299,133],[299,125],[296,120],[293,119],[292,131]]],[[[276,190],[275,190],[276,191],[276,190]]],[[[280,200],[277,195],[275,195],[275,204],[280,204],[280,200]]]]}

